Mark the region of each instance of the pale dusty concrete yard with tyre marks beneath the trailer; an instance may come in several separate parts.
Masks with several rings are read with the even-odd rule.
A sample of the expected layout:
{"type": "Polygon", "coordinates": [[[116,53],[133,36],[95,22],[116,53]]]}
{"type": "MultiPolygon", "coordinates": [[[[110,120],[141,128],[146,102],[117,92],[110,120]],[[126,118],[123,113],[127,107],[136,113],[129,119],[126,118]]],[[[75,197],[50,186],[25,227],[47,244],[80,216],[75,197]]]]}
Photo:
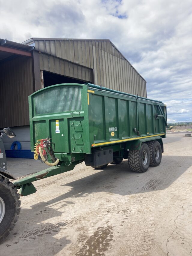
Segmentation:
{"type": "MultiPolygon", "coordinates": [[[[0,255],[192,255],[192,137],[184,135],[168,134],[160,166],[146,173],[125,160],[34,182],[0,255]]],[[[17,161],[16,176],[46,168],[29,160],[22,171],[17,161]]]]}

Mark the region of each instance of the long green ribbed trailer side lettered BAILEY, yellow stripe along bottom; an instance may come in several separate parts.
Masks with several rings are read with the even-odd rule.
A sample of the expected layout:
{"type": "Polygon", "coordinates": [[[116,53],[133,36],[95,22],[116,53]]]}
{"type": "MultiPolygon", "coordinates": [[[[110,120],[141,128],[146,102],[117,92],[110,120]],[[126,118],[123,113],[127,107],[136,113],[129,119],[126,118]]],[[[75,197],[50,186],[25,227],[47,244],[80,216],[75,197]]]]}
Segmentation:
{"type": "MultiPolygon", "coordinates": [[[[94,89],[88,90],[88,94],[92,147],[165,135],[163,117],[155,119],[157,114],[161,114],[156,102],[94,89]]],[[[165,114],[164,104],[158,105],[165,114]]]]}

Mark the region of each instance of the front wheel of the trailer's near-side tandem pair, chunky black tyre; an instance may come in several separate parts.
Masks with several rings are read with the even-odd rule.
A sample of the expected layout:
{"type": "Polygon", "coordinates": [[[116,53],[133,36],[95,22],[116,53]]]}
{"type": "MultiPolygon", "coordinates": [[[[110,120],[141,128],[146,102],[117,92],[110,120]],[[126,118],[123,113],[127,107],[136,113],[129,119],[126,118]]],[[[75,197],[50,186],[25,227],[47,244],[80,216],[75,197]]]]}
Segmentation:
{"type": "Polygon", "coordinates": [[[144,173],[149,168],[150,151],[146,143],[141,144],[140,150],[129,150],[129,167],[132,171],[144,173]]]}

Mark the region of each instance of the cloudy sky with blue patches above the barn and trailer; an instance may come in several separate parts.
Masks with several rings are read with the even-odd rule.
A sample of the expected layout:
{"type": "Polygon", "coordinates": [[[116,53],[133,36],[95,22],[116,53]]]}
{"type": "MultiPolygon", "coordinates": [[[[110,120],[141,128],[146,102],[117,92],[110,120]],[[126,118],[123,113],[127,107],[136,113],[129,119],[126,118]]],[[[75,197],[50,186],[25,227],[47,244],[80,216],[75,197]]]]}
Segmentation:
{"type": "Polygon", "coordinates": [[[0,0],[0,38],[32,37],[110,39],[168,122],[192,122],[191,0],[0,0]]]}

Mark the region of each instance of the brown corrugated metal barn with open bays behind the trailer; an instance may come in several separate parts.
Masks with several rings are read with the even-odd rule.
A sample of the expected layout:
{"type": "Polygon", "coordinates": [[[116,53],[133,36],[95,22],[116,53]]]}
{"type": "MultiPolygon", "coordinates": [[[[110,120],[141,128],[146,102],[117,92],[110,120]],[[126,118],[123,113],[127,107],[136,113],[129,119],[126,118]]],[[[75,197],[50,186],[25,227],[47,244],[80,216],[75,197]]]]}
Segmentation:
{"type": "MultiPolygon", "coordinates": [[[[147,96],[146,80],[108,39],[0,39],[0,127],[12,127],[22,149],[30,149],[28,96],[53,84],[85,82],[147,96]]],[[[4,142],[10,149],[13,141],[4,142]]]]}

